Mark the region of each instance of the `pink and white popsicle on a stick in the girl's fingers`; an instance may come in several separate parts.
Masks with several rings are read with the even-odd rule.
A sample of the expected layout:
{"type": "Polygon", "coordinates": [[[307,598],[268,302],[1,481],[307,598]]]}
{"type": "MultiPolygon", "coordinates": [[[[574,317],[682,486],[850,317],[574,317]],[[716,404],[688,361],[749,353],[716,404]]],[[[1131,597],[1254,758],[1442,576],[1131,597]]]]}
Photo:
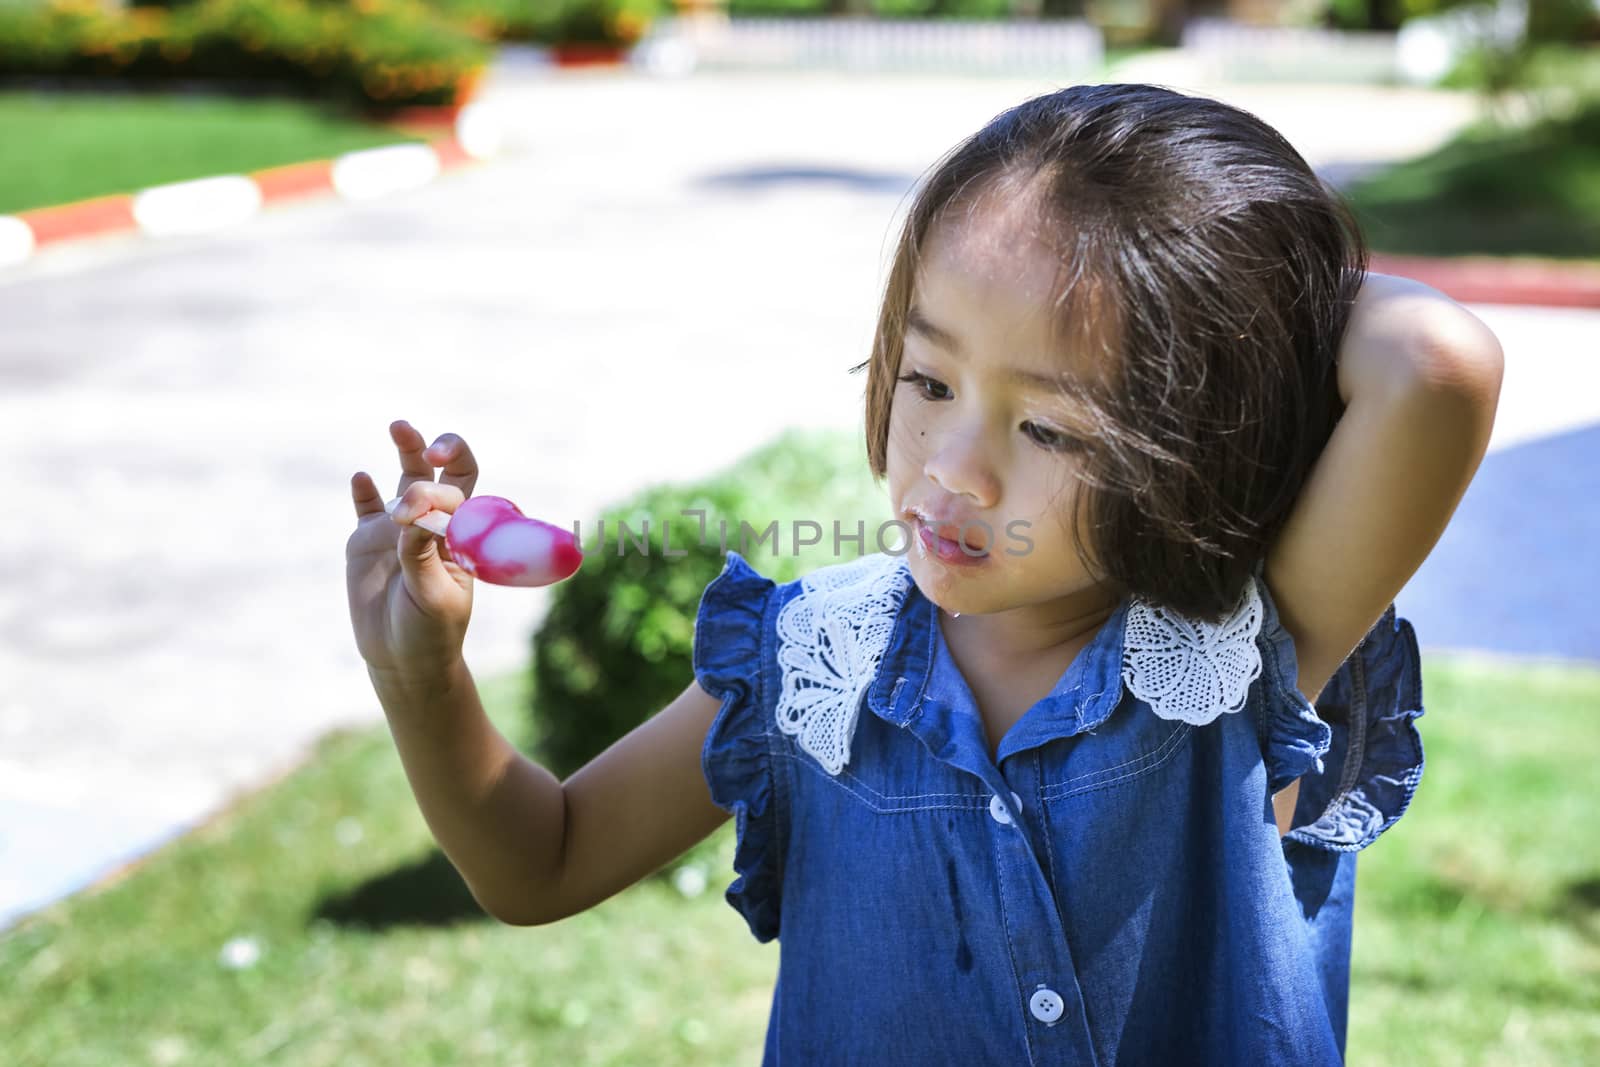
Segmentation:
{"type": "MultiPolygon", "coordinates": [[[[389,510],[398,499],[390,501],[389,510]]],[[[445,534],[461,569],[494,585],[550,585],[584,561],[578,539],[560,526],[528,518],[504,496],[474,496],[453,515],[430,512],[416,525],[445,534]],[[438,520],[446,523],[440,528],[438,520]]]]}

